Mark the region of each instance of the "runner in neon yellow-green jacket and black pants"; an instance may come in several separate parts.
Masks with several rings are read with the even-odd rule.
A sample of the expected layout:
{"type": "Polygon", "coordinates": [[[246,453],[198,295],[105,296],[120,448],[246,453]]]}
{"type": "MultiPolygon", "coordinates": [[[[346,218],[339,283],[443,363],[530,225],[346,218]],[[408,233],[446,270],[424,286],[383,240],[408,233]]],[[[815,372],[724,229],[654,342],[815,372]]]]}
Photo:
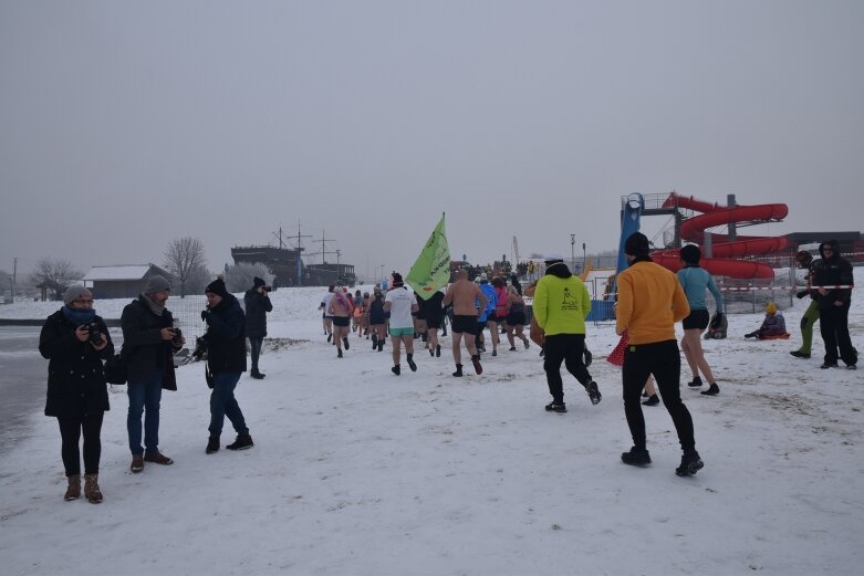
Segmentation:
{"type": "Polygon", "coordinates": [[[585,349],[585,318],[591,312],[591,295],[582,281],[574,276],[563,256],[552,254],[545,260],[546,272],[537,283],[533,316],[543,333],[543,369],[546,373],[552,401],[546,411],[566,412],[561,363],[585,387],[591,404],[603,398],[597,383],[591,378],[583,353],[585,349]]]}

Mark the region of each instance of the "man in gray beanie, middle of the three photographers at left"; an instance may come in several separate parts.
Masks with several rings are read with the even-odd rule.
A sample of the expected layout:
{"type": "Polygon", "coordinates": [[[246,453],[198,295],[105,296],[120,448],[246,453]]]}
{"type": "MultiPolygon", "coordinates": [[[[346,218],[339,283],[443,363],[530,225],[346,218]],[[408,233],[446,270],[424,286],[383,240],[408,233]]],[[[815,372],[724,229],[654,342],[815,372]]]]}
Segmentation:
{"type": "Polygon", "coordinates": [[[129,411],[126,430],[129,434],[132,465],[137,473],[144,462],[173,464],[159,452],[159,402],[162,389],[176,390],[173,353],[186,342],[174,332],[174,317],[165,307],[171,285],[158,274],[147,281],[144,293],[123,308],[123,352],[128,370],[126,394],[129,411]],[[140,446],[140,417],[144,413],[144,448],[140,446]]]}

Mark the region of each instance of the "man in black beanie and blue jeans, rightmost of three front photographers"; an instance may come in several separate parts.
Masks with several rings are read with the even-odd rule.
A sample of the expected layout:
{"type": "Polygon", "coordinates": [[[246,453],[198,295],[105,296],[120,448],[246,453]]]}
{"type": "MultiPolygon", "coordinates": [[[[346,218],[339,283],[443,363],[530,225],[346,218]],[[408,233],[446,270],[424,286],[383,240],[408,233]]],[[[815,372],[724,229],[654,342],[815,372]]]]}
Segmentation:
{"type": "Polygon", "coordinates": [[[204,337],[209,345],[207,368],[212,381],[210,439],[206,452],[212,454],[219,451],[219,437],[226,416],[237,431],[237,440],[226,448],[246,450],[252,448],[252,437],[249,436],[243,412],[235,398],[237,383],[246,371],[246,316],[240,303],[233,294],[228,293],[220,279],[207,285],[205,295],[207,310],[201,312],[201,320],[207,322],[207,334],[204,337]]]}

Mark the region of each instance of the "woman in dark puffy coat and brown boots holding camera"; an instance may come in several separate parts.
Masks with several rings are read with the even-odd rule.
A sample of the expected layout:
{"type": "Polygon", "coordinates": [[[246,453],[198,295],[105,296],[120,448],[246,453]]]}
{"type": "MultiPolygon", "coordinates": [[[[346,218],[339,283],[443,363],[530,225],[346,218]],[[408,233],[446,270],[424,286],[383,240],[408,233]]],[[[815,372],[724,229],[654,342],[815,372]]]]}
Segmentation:
{"type": "Polygon", "coordinates": [[[98,463],[102,418],[108,409],[108,390],[102,360],[114,354],[105,322],[93,310],[93,294],[74,285],[63,295],[64,306],[45,320],[39,352],[48,358],[45,416],[60,425],[63,467],[69,485],[65,500],[81,496],[81,452],[84,434],[84,496],[102,502],[98,463]]]}

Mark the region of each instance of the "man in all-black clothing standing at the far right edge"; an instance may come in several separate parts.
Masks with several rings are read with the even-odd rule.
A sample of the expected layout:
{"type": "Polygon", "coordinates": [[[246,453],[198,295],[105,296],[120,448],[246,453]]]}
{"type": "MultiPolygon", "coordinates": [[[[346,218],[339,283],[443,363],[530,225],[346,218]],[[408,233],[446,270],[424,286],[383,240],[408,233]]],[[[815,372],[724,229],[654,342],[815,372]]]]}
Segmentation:
{"type": "Polygon", "coordinates": [[[811,294],[819,302],[819,329],[825,343],[825,362],[821,367],[836,367],[837,358],[842,358],[846,368],[854,370],[858,355],[849,335],[849,308],[854,283],[852,264],[840,255],[836,240],[822,242],[819,253],[822,260],[813,264],[811,294]]]}

